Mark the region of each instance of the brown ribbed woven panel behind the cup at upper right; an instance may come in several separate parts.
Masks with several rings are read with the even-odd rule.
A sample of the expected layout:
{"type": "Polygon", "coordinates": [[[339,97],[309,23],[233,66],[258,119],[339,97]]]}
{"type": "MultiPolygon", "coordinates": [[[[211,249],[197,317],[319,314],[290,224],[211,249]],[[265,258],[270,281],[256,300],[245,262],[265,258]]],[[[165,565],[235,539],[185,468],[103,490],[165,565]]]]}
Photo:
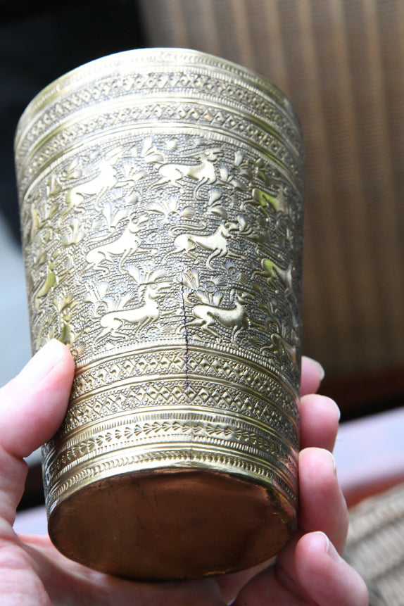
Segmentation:
{"type": "Polygon", "coordinates": [[[404,362],[404,3],[141,0],[151,46],[215,53],[293,102],[306,146],[303,351],[404,362]]]}

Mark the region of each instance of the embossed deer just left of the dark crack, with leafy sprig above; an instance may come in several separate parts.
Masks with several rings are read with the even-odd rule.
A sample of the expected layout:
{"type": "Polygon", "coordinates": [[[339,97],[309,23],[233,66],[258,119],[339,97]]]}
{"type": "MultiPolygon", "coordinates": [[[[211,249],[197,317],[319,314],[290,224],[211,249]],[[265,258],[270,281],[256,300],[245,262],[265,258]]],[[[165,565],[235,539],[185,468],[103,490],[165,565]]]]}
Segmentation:
{"type": "Polygon", "coordinates": [[[139,281],[139,298],[142,304],[136,308],[116,309],[101,316],[100,324],[103,330],[96,338],[101,341],[104,336],[110,335],[112,338],[127,337],[127,334],[120,332],[122,324],[137,324],[140,330],[149,326],[151,322],[156,322],[160,317],[160,306],[158,299],[165,296],[172,286],[171,282],[163,281],[163,270],[149,272],[143,276],[139,274],[136,268],[130,268],[127,271],[136,281],[139,281]]]}

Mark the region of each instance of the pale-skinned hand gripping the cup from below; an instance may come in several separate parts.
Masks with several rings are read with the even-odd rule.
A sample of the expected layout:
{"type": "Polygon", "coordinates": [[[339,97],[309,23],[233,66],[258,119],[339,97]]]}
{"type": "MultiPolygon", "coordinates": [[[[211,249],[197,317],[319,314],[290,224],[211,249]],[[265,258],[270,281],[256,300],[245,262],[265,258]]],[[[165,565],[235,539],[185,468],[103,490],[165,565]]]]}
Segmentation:
{"type": "MultiPolygon", "coordinates": [[[[276,560],[201,581],[144,583],[94,572],[67,560],[46,536],[18,536],[15,508],[29,455],[51,438],[68,405],[68,348],[48,343],[0,390],[0,603],[2,606],[366,606],[365,583],[341,558],[348,515],[334,446],[336,404],[315,395],[317,362],[302,362],[298,532],[276,560]]],[[[197,553],[196,553],[197,557],[197,553]]]]}

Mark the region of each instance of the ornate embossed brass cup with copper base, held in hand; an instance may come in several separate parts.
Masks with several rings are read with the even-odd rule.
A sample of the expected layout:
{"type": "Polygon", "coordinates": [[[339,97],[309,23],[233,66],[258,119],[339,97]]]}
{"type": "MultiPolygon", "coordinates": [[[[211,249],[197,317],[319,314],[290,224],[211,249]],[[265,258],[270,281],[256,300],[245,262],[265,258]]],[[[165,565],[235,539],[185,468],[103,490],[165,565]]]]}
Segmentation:
{"type": "Polygon", "coordinates": [[[15,139],[36,351],[75,355],[43,448],[49,534],[143,579],[229,572],[295,529],[302,142],[276,87],[147,49],[44,89],[15,139]]]}

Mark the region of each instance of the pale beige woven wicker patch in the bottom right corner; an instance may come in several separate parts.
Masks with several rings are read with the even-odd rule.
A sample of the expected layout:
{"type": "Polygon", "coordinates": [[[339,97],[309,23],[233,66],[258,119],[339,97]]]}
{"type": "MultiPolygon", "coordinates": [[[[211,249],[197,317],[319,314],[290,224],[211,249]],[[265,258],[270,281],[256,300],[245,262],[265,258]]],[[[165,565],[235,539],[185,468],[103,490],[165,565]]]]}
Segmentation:
{"type": "Polygon", "coordinates": [[[404,486],[351,512],[345,557],[365,579],[370,606],[404,605],[404,486]]]}

